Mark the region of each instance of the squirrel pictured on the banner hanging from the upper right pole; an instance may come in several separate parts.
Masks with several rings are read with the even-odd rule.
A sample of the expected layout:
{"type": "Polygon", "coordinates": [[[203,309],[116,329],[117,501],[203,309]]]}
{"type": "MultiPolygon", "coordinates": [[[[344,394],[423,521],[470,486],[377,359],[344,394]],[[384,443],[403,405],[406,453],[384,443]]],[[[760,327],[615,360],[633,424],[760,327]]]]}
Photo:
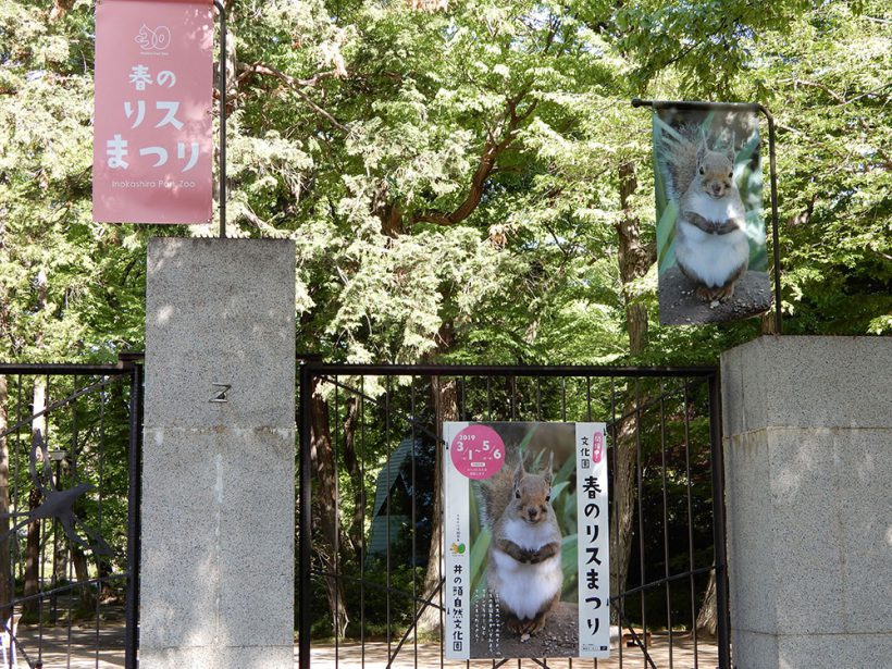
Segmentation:
{"type": "Polygon", "coordinates": [[[727,302],[749,264],[745,211],[734,182],[733,140],[726,151],[682,127],[662,135],[667,191],[679,203],[676,261],[706,301],[727,302]]]}

